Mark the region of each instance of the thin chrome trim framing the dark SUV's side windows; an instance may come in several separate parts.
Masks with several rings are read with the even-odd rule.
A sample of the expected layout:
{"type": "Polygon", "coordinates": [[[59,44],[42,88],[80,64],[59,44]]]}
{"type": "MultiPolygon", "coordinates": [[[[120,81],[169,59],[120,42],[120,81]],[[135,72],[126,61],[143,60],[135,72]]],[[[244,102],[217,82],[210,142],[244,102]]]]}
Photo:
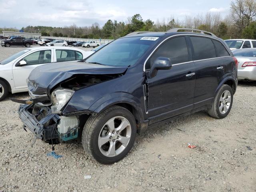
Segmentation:
{"type": "MultiPolygon", "coordinates": [[[[156,48],[154,48],[154,50],[149,54],[149,56],[146,58],[146,60],[145,60],[145,62],[144,62],[143,71],[144,71],[144,72],[146,71],[146,68],[145,68],[146,62],[148,62],[148,59],[152,56],[152,54],[156,51],[156,49],[157,49],[161,44],[163,44],[166,40],[168,40],[168,39],[170,39],[170,38],[172,38],[172,37],[175,37],[175,36],[185,36],[185,35],[189,35],[189,36],[201,36],[201,37],[206,37],[206,38],[212,38],[212,39],[214,39],[214,40],[220,42],[220,43],[226,48],[226,46],[225,46],[220,40],[218,40],[218,39],[216,39],[216,38],[214,38],[214,37],[211,37],[211,36],[204,36],[204,35],[200,35],[200,34],[177,34],[177,35],[172,35],[172,36],[167,37],[167,38],[165,38],[164,40],[162,40],[162,42],[160,42],[160,43],[158,44],[158,46],[156,46],[156,48]]],[[[214,46],[214,47],[215,47],[215,46],[214,46]]],[[[226,48],[226,50],[227,50],[227,48],[226,48]]],[[[227,51],[228,51],[228,50],[227,50],[227,51]]],[[[176,64],[173,64],[172,66],[181,65],[181,64],[186,64],[186,63],[192,63],[192,62],[198,62],[198,61],[212,60],[212,59],[217,59],[217,58],[232,57],[232,56],[230,55],[230,52],[229,52],[229,51],[228,51],[228,54],[229,54],[229,56],[214,57],[214,58],[208,58],[208,59],[202,59],[202,60],[192,60],[192,61],[183,62],[183,63],[176,63],[176,64]]]]}

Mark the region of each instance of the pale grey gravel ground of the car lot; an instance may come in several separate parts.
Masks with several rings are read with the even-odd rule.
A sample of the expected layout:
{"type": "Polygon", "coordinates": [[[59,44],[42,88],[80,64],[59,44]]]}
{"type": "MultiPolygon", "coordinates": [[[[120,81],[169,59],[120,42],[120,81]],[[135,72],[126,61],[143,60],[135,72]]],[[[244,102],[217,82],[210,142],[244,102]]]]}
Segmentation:
{"type": "MultiPolygon", "coordinates": [[[[1,47],[0,60],[22,49],[1,47]]],[[[0,102],[0,191],[256,191],[256,82],[239,82],[226,118],[198,112],[149,128],[113,165],[92,161],[82,144],[56,146],[59,159],[47,157],[51,146],[40,140],[31,148],[33,136],[22,130],[18,105],[0,102]]]]}

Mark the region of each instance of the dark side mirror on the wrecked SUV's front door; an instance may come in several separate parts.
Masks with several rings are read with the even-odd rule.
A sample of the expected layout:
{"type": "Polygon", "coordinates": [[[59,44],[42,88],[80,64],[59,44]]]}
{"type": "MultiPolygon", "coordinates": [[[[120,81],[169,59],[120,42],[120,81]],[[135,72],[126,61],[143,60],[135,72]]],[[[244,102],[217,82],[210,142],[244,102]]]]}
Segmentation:
{"type": "Polygon", "coordinates": [[[154,61],[153,65],[149,71],[149,76],[150,76],[150,78],[153,78],[156,76],[158,70],[168,70],[170,68],[172,68],[172,63],[169,58],[158,57],[154,61]]]}

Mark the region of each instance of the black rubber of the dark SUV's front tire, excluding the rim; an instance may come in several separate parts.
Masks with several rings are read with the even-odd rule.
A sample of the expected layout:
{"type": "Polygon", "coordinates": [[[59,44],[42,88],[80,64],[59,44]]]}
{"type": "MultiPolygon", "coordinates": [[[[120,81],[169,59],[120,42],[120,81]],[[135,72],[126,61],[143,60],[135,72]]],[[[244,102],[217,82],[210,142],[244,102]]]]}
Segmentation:
{"type": "MultiPolygon", "coordinates": [[[[116,124],[114,129],[116,130],[116,124]]],[[[123,131],[120,131],[119,133],[120,138],[121,138],[121,134],[122,136],[124,136],[124,134],[122,133],[123,131]]],[[[105,133],[107,134],[107,136],[110,136],[110,134],[113,136],[113,137],[110,136],[110,140],[106,142],[106,145],[109,144],[109,150],[110,150],[110,143],[112,141],[114,143],[114,140],[112,139],[116,138],[117,135],[115,134],[118,134],[118,131],[115,133],[110,131],[105,133]]],[[[113,164],[115,162],[118,162],[128,154],[128,152],[131,150],[134,144],[135,137],[136,137],[136,121],[132,113],[126,108],[123,108],[120,106],[112,106],[104,110],[102,113],[98,114],[98,116],[90,116],[88,118],[88,120],[86,121],[86,124],[84,125],[84,130],[82,132],[82,145],[84,150],[92,157],[92,159],[102,164],[113,164]],[[99,142],[99,137],[101,136],[102,132],[104,131],[104,128],[106,127],[106,123],[109,122],[112,118],[116,118],[116,117],[121,117],[128,121],[130,126],[127,126],[126,128],[124,128],[123,131],[125,131],[124,132],[125,135],[127,134],[127,132],[130,133],[130,137],[129,137],[130,140],[128,141],[128,144],[126,144],[126,147],[124,148],[124,150],[122,150],[119,154],[116,154],[116,147],[118,148],[118,144],[119,146],[120,144],[121,146],[123,146],[122,143],[118,141],[118,137],[117,137],[116,143],[114,145],[115,156],[108,157],[101,152],[102,149],[101,149],[101,146],[99,146],[98,142],[99,142]]]]}

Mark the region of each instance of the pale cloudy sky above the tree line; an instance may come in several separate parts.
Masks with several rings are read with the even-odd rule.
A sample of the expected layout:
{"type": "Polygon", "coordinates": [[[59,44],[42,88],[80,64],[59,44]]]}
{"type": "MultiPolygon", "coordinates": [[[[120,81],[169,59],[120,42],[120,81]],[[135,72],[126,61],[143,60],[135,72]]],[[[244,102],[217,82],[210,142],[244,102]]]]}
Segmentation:
{"type": "Polygon", "coordinates": [[[102,26],[108,19],[126,22],[139,13],[153,21],[182,20],[206,12],[229,13],[231,0],[0,0],[0,27],[102,26]]]}

